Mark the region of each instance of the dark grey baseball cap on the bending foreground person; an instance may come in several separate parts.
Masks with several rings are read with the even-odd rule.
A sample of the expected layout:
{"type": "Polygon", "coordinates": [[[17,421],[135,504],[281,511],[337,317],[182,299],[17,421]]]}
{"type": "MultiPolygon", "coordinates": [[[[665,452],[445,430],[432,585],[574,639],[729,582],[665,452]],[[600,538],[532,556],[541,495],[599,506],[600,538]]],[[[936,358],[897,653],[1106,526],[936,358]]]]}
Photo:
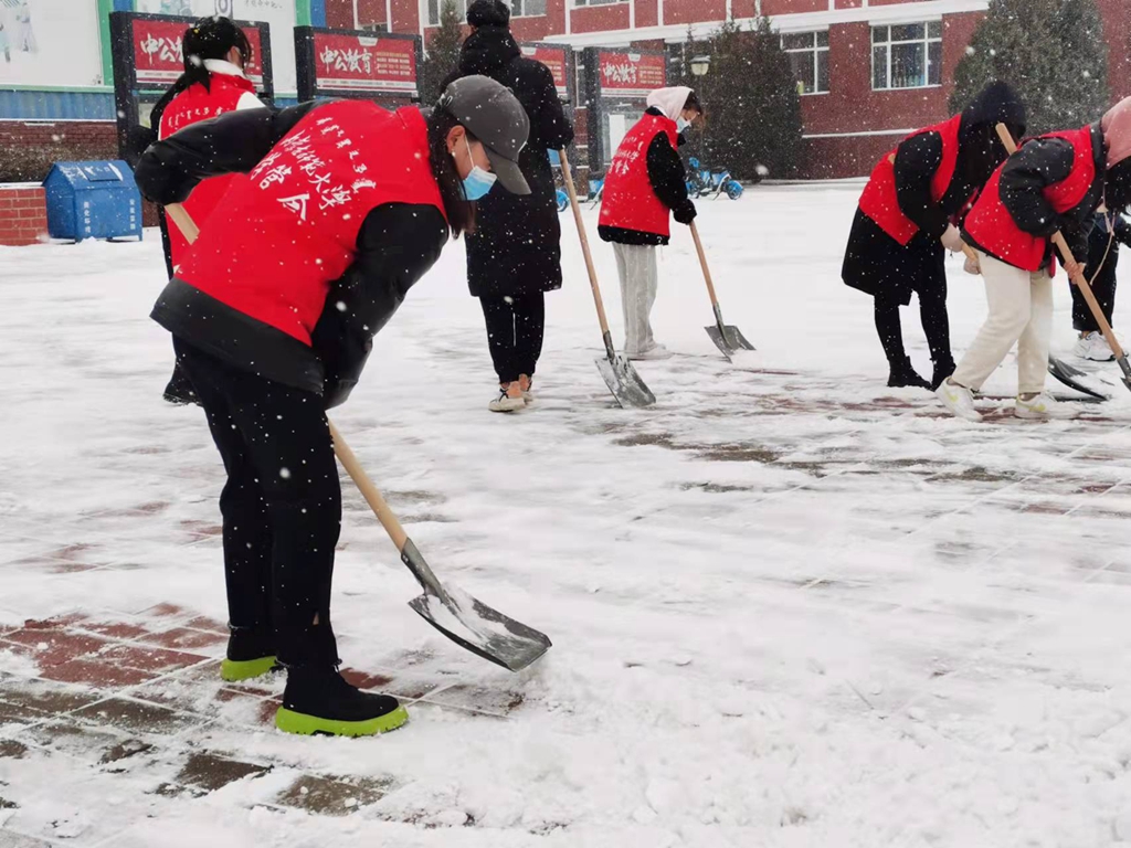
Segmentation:
{"type": "Polygon", "coordinates": [[[518,154],[530,135],[530,119],[513,92],[490,77],[463,77],[443,90],[439,106],[483,144],[491,170],[507,191],[530,193],[518,167],[518,154]]]}

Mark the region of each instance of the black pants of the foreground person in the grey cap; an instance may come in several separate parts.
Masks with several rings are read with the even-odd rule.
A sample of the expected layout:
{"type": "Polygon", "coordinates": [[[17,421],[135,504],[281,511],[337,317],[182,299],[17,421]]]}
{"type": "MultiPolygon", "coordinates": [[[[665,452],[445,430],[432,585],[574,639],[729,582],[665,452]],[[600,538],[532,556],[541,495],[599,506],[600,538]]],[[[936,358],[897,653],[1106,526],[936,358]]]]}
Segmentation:
{"type": "Polygon", "coordinates": [[[284,665],[336,663],[330,582],[342,488],[322,399],[180,339],[173,347],[227,470],[219,509],[232,626],[271,629],[284,665]]]}

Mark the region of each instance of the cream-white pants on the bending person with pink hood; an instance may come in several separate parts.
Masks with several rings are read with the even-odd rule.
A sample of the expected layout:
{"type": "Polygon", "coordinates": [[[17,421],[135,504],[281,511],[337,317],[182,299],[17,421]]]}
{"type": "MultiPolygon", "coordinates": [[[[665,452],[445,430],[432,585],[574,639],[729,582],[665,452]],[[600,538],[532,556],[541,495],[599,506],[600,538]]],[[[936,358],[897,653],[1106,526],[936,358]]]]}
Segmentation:
{"type": "Polygon", "coordinates": [[[1018,395],[1044,391],[1053,329],[1053,284],[1046,269],[1025,271],[978,252],[990,315],[951,378],[981,389],[1017,345],[1018,395]]]}

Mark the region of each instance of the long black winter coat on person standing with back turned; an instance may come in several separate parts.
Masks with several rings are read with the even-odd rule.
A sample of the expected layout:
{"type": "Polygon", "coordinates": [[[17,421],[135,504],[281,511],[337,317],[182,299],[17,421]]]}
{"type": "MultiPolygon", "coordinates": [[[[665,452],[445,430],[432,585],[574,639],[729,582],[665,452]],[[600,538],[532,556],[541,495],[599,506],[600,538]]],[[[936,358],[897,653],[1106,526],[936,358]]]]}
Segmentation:
{"type": "Polygon", "coordinates": [[[520,297],[561,288],[561,224],[547,150],[573,140],[554,78],[523,57],[506,27],[481,26],[464,42],[459,70],[446,81],[480,73],[510,88],[530,119],[518,164],[528,197],[495,188],[478,202],[476,232],[467,240],[467,285],[475,297],[520,297]]]}

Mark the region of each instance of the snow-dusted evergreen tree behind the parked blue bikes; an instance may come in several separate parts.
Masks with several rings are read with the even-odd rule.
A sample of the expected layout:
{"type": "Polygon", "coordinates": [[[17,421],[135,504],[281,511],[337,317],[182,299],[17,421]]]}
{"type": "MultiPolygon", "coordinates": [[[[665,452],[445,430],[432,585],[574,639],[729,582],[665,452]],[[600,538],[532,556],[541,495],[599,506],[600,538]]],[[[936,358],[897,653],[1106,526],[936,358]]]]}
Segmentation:
{"type": "Polygon", "coordinates": [[[740,180],[794,174],[801,165],[801,97],[767,18],[746,31],[733,20],[711,36],[710,70],[699,78],[707,109],[706,164],[740,180]]]}

